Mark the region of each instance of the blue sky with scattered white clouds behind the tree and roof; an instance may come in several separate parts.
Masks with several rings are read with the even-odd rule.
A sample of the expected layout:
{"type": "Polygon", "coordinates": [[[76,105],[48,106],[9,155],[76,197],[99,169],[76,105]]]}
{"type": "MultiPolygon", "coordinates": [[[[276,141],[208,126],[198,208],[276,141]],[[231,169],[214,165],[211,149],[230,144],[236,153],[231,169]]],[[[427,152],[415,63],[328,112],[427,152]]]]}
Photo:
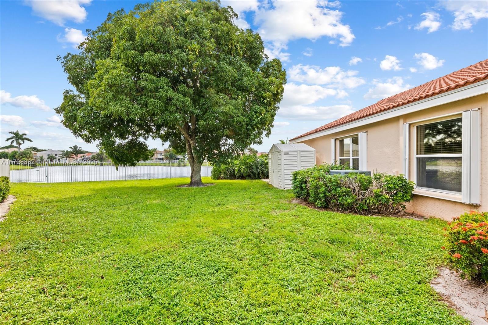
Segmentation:
{"type": "MultiPolygon", "coordinates": [[[[73,144],[53,107],[72,89],[57,55],[76,52],[86,29],[141,1],[0,2],[1,145],[19,129],[44,149],[73,144]]],[[[284,63],[284,100],[270,138],[308,130],[488,58],[488,1],[222,1],[284,63]]],[[[29,144],[28,144],[29,145],[29,144]]],[[[150,147],[162,149],[159,141],[150,147]]]]}

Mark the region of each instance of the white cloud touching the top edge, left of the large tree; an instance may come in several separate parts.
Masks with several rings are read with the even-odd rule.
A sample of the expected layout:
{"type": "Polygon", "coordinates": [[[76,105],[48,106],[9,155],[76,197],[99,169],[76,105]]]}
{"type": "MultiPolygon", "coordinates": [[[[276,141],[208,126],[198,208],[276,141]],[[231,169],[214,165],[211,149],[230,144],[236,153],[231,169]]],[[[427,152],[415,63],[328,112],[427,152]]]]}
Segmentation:
{"type": "Polygon", "coordinates": [[[32,7],[36,16],[50,20],[63,26],[67,20],[83,22],[86,19],[86,9],[91,0],[26,0],[25,3],[32,7]]]}

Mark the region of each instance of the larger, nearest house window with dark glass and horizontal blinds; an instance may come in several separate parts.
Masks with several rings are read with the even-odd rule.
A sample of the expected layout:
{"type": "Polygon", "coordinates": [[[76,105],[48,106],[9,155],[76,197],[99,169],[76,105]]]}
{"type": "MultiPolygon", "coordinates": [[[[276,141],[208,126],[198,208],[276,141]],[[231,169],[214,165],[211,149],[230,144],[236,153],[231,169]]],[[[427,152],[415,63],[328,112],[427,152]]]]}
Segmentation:
{"type": "Polygon", "coordinates": [[[417,187],[461,193],[462,118],[417,126],[417,187]]]}

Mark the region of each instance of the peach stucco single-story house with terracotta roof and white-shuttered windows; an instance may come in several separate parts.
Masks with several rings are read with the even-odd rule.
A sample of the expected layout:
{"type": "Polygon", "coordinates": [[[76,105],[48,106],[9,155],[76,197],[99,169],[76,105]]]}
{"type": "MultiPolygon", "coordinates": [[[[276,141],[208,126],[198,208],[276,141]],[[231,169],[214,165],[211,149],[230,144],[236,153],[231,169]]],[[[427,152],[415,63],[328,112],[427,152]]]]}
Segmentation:
{"type": "Polygon", "coordinates": [[[446,220],[488,211],[488,60],[393,95],[290,140],[317,163],[403,174],[407,210],[446,220]]]}

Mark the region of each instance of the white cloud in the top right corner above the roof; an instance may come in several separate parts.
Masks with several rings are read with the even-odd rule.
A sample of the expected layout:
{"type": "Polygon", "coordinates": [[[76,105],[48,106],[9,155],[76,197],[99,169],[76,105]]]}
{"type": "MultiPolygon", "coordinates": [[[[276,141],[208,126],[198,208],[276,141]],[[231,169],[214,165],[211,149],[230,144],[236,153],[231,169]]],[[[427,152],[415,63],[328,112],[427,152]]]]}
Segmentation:
{"type": "Polygon", "coordinates": [[[469,29],[478,20],[488,18],[488,1],[439,1],[454,15],[451,28],[454,30],[469,29]]]}

